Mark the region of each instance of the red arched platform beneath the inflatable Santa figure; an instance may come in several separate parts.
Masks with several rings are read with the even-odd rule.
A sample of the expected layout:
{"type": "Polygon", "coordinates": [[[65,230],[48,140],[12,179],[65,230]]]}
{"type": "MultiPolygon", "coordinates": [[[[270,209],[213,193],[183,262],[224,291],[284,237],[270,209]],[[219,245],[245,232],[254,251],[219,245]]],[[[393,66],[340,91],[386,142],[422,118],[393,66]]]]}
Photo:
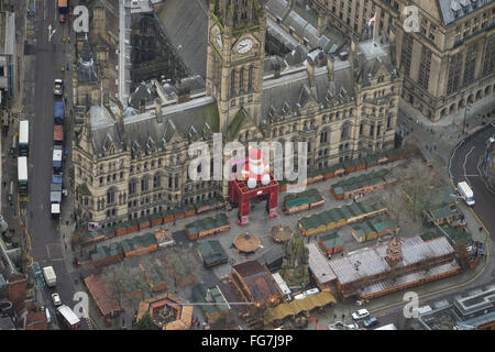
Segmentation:
{"type": "Polygon", "coordinates": [[[261,183],[255,188],[249,188],[241,175],[235,175],[234,180],[229,184],[229,198],[233,204],[239,205],[238,224],[244,226],[250,222],[251,199],[266,196],[266,211],[270,219],[278,217],[278,190],[277,180],[270,174],[270,184],[264,186],[261,183]]]}

